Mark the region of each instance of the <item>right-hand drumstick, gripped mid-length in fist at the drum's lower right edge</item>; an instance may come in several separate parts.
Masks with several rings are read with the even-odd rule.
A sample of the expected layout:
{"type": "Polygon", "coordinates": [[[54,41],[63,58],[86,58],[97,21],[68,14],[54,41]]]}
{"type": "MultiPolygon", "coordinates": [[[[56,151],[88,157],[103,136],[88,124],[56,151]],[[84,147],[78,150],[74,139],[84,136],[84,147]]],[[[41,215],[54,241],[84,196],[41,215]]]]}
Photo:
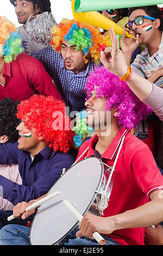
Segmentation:
{"type": "MultiPolygon", "coordinates": [[[[74,206],[68,200],[64,200],[64,204],[68,208],[68,210],[70,210],[72,212],[72,214],[77,218],[77,220],[79,222],[81,222],[82,218],[83,218],[82,214],[80,214],[80,212],[78,212],[77,209],[74,208],[74,206]]],[[[105,244],[105,240],[103,239],[103,237],[98,232],[92,233],[92,236],[96,239],[96,241],[100,245],[105,244]]]]}

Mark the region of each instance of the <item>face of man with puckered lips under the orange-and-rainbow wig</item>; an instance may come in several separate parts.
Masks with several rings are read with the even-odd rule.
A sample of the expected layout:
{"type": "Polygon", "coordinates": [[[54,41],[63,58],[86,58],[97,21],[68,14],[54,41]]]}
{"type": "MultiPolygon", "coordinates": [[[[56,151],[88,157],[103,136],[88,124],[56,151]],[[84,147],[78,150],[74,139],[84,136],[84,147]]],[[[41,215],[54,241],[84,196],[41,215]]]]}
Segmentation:
{"type": "Polygon", "coordinates": [[[86,69],[84,54],[82,50],[77,50],[76,45],[69,45],[67,41],[62,41],[61,56],[64,59],[67,70],[72,70],[75,74],[86,69]]]}

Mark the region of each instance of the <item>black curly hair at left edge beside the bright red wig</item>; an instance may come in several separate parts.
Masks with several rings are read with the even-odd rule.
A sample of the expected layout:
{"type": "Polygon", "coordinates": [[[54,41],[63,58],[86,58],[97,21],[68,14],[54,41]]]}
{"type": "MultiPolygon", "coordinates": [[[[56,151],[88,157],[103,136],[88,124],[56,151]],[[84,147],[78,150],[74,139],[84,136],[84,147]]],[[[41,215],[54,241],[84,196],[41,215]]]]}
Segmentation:
{"type": "Polygon", "coordinates": [[[16,117],[17,105],[20,101],[14,101],[5,97],[0,101],[0,136],[7,135],[8,142],[14,143],[20,137],[16,127],[21,120],[16,117]]]}

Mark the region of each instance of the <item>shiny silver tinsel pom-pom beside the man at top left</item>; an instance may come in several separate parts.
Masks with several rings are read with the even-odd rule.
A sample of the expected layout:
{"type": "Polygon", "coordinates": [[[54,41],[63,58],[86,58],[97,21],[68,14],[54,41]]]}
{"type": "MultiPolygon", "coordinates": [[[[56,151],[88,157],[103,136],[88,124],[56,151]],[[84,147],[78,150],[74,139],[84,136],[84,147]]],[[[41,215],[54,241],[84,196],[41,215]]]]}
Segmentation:
{"type": "Polygon", "coordinates": [[[45,13],[39,15],[30,15],[25,29],[33,42],[50,46],[52,40],[51,31],[54,25],[58,26],[52,13],[45,11],[45,13]]]}

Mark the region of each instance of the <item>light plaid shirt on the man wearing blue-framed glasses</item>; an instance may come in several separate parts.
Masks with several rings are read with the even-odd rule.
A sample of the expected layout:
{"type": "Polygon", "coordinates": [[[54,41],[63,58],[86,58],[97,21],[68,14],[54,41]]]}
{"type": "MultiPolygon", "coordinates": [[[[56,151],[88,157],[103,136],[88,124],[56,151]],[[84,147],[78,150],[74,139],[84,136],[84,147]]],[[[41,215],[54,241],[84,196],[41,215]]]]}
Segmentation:
{"type": "MultiPolygon", "coordinates": [[[[136,56],[134,62],[131,64],[131,68],[134,72],[145,78],[149,78],[154,71],[163,68],[163,33],[158,52],[150,57],[147,48],[145,48],[141,54],[136,56]]],[[[163,87],[163,76],[155,84],[163,87]]]]}

